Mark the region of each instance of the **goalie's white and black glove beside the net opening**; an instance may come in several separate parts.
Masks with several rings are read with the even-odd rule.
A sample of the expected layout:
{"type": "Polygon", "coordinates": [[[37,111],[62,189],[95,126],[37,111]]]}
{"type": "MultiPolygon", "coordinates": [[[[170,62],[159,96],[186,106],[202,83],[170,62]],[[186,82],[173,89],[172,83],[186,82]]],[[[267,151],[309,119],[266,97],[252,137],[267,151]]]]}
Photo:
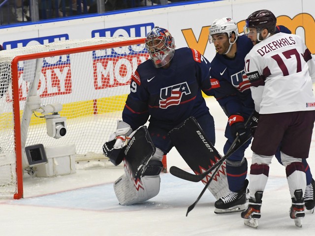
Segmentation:
{"type": "Polygon", "coordinates": [[[115,166],[118,166],[123,161],[124,155],[121,153],[121,150],[126,146],[126,140],[128,140],[128,136],[131,133],[130,125],[122,120],[118,120],[116,131],[109,136],[109,141],[103,145],[104,155],[115,166]]]}

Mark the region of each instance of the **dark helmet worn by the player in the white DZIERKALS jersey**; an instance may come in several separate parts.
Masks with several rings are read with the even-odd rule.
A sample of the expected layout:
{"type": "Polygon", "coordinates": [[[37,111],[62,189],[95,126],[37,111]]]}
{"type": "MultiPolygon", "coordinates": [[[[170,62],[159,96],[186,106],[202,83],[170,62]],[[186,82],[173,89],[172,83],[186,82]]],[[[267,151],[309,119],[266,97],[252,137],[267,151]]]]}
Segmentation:
{"type": "Polygon", "coordinates": [[[260,41],[262,41],[262,39],[259,38],[260,31],[262,29],[267,29],[268,35],[266,38],[268,38],[271,33],[276,32],[276,24],[277,24],[277,18],[275,17],[275,15],[271,11],[258,10],[258,11],[253,12],[246,19],[246,25],[244,27],[244,33],[245,33],[245,35],[248,35],[250,33],[250,28],[256,29],[257,30],[257,40],[258,40],[258,42],[260,42],[260,41]]]}

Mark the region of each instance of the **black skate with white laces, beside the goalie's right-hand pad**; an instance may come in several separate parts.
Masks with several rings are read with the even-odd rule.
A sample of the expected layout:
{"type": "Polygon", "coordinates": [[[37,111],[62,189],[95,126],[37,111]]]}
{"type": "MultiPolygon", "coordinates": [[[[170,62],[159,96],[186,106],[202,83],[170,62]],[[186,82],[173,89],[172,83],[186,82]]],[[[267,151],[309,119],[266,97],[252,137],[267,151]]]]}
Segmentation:
{"type": "Polygon", "coordinates": [[[245,186],[239,192],[229,191],[224,197],[221,197],[215,203],[215,213],[228,213],[234,211],[241,211],[246,208],[247,198],[247,185],[248,180],[245,179],[245,186]]]}

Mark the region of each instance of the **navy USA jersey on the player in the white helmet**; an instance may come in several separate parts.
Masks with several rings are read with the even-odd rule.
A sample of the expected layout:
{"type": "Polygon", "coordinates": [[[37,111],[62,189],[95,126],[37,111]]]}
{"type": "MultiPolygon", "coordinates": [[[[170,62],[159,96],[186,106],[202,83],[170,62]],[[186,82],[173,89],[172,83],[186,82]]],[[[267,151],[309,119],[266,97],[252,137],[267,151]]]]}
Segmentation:
{"type": "Polygon", "coordinates": [[[250,83],[244,71],[244,58],[253,47],[252,41],[241,35],[236,43],[233,59],[217,53],[211,62],[211,92],[227,116],[248,114],[254,109],[250,83]]]}

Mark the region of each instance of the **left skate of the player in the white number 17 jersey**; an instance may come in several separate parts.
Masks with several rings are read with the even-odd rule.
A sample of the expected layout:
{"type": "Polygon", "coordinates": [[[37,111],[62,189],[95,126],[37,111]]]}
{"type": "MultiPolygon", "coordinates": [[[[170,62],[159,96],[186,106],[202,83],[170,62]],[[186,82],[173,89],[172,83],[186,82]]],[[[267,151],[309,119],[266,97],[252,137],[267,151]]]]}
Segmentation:
{"type": "Polygon", "coordinates": [[[244,224],[252,228],[258,227],[258,219],[260,218],[260,208],[262,204],[262,191],[255,193],[255,199],[249,199],[249,205],[246,210],[241,213],[244,224]]]}

